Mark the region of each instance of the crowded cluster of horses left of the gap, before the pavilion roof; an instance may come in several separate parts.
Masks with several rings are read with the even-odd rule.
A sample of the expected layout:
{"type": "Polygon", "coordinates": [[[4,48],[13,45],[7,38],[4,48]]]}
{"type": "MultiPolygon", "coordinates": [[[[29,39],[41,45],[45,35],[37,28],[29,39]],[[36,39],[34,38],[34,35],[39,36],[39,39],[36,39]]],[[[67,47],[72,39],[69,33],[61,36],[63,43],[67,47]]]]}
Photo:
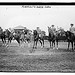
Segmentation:
{"type": "Polygon", "coordinates": [[[16,40],[20,46],[21,42],[29,42],[30,38],[28,37],[27,34],[27,30],[26,32],[22,32],[22,33],[12,33],[11,31],[9,31],[8,29],[5,31],[0,32],[0,39],[2,40],[3,44],[8,45],[9,43],[12,42],[12,40],[16,40]]]}

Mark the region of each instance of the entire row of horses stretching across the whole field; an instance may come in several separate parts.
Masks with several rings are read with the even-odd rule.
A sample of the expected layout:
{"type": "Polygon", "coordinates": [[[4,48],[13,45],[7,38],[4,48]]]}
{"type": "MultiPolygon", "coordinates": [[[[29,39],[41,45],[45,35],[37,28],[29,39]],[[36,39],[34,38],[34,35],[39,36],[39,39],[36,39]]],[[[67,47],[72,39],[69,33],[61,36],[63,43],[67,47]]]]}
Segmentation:
{"type": "MultiPolygon", "coordinates": [[[[61,33],[61,32],[60,32],[61,33]]],[[[56,34],[49,31],[49,35],[47,36],[48,42],[50,43],[50,48],[58,49],[58,43],[60,41],[66,41],[68,43],[68,50],[70,47],[70,43],[72,45],[72,50],[75,49],[75,35],[71,33],[70,31],[64,31],[64,36],[60,36],[60,33],[56,31],[56,34]],[[63,38],[63,39],[60,39],[63,38]]],[[[28,31],[22,32],[22,33],[12,33],[8,29],[5,31],[0,32],[0,38],[3,42],[3,44],[6,44],[6,40],[8,40],[8,44],[12,42],[12,40],[16,40],[20,46],[21,42],[28,42],[30,43],[32,41],[31,37],[33,37],[33,49],[37,48],[38,41],[41,44],[41,47],[44,47],[45,42],[45,35],[41,32],[41,34],[38,34],[37,30],[33,30],[33,34],[31,35],[28,31]]]]}

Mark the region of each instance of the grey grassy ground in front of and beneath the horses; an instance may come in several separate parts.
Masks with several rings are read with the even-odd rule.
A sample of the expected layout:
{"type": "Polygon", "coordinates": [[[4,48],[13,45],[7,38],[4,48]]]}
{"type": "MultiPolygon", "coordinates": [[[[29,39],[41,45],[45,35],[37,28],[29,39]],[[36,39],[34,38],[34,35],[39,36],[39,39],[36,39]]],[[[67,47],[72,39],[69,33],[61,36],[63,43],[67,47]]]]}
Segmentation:
{"type": "Polygon", "coordinates": [[[18,46],[13,41],[9,47],[0,42],[1,72],[75,72],[75,52],[67,50],[67,42],[60,42],[59,49],[49,49],[49,43],[32,49],[27,44],[18,46]]]}

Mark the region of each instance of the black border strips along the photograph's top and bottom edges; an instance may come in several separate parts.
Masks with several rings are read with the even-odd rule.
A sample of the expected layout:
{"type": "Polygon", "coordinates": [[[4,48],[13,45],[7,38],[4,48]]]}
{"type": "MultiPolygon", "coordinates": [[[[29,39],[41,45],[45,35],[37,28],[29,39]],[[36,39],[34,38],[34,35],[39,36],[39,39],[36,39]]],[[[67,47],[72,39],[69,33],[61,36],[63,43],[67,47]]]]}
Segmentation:
{"type": "MultiPolygon", "coordinates": [[[[21,5],[53,5],[53,6],[75,6],[75,2],[0,2],[0,6],[21,6],[21,5]]],[[[69,71],[0,71],[13,73],[75,73],[69,71]]]]}

